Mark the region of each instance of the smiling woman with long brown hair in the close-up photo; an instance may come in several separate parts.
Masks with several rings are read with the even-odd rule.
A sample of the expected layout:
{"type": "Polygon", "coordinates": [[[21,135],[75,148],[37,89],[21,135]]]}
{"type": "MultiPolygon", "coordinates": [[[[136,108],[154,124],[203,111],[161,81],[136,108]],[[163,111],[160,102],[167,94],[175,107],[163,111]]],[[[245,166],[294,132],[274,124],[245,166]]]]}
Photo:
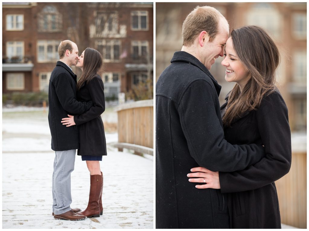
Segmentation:
{"type": "Polygon", "coordinates": [[[274,85],[279,52],[262,28],[246,26],[231,32],[224,53],[225,79],[237,83],[221,107],[225,139],[264,145],[266,156],[235,172],[193,168],[189,181],[227,193],[231,228],[281,228],[274,181],[290,170],[291,133],[286,104],[274,85]]]}

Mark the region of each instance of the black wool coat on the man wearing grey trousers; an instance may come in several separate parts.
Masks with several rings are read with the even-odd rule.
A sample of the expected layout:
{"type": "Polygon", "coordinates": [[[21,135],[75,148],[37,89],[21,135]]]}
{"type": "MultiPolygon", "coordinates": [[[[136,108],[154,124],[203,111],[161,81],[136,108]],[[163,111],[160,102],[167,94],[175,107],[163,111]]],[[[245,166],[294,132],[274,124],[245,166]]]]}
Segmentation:
{"type": "Polygon", "coordinates": [[[79,148],[77,126],[62,125],[62,118],[69,115],[82,114],[89,110],[92,102],[76,100],[77,77],[63,62],[57,61],[49,79],[48,90],[48,121],[52,135],[52,149],[65,151],[79,148]]]}

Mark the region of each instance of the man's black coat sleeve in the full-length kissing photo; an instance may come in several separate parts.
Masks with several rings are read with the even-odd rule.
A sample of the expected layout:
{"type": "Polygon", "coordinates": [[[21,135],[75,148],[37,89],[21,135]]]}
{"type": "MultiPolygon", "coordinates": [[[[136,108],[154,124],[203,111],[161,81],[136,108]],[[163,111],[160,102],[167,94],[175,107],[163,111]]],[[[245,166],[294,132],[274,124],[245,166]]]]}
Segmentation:
{"type": "Polygon", "coordinates": [[[92,106],[92,102],[78,102],[76,100],[69,78],[71,77],[66,73],[61,73],[54,80],[53,84],[55,86],[57,97],[64,110],[73,115],[82,114],[89,110],[92,106]]]}

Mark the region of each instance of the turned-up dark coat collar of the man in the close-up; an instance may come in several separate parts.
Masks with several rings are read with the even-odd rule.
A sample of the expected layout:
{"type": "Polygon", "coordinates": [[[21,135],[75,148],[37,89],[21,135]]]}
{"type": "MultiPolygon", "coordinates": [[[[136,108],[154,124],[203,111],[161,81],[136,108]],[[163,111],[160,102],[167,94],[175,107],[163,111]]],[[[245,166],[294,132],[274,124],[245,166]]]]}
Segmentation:
{"type": "Polygon", "coordinates": [[[205,65],[201,63],[201,61],[199,61],[196,57],[194,57],[193,55],[189,54],[188,52],[176,51],[174,53],[173,58],[171,59],[171,63],[177,62],[177,61],[187,62],[187,63],[189,63],[191,65],[194,65],[194,66],[198,67],[203,72],[205,72],[205,74],[207,74],[210,77],[211,81],[214,83],[214,87],[215,87],[215,89],[217,91],[217,94],[219,96],[220,91],[221,91],[221,86],[218,84],[217,80],[214,79],[214,77],[211,75],[211,73],[205,67],[205,65]]]}

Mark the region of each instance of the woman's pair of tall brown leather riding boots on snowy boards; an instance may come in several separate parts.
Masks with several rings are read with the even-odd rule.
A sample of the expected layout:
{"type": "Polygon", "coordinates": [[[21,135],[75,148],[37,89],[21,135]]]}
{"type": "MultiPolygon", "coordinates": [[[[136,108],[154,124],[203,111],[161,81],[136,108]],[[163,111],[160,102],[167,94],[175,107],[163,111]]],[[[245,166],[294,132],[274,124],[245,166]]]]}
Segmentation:
{"type": "Polygon", "coordinates": [[[99,198],[102,192],[102,187],[103,187],[102,175],[90,175],[90,192],[89,192],[88,206],[84,211],[78,212],[78,214],[87,217],[100,216],[99,198]]]}

